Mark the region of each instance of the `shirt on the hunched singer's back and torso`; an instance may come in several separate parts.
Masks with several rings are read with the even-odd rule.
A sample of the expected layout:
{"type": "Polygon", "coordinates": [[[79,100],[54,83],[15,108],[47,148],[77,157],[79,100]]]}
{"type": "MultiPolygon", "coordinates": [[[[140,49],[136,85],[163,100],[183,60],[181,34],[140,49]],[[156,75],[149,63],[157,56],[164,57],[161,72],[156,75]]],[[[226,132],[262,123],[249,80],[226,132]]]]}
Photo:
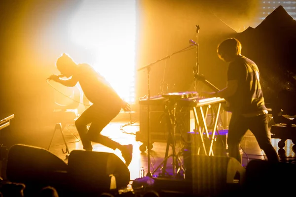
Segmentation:
{"type": "Polygon", "coordinates": [[[121,99],[107,80],[92,66],[79,64],[75,75],[87,99],[93,104],[112,105],[120,104],[121,99]]]}

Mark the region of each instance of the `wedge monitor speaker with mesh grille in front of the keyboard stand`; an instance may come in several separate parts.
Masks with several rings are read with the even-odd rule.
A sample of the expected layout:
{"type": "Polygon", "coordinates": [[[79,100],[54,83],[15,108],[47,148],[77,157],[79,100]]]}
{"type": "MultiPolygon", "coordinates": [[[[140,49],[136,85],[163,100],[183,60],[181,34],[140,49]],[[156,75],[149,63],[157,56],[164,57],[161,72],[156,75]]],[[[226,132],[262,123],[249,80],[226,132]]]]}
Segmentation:
{"type": "Polygon", "coordinates": [[[217,195],[231,188],[241,188],[245,168],[234,158],[192,155],[184,159],[185,179],[192,181],[196,195],[217,195]]]}

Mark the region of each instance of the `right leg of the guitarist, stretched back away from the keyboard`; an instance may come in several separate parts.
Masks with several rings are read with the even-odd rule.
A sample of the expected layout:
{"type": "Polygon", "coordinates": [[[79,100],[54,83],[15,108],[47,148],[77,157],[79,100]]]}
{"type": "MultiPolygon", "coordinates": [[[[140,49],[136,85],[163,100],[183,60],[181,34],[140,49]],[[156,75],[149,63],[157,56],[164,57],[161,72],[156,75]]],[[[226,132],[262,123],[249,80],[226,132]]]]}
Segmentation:
{"type": "Polygon", "coordinates": [[[255,135],[260,148],[265,152],[268,161],[278,162],[279,157],[271,144],[268,135],[267,115],[253,117],[250,122],[250,130],[255,135]]]}

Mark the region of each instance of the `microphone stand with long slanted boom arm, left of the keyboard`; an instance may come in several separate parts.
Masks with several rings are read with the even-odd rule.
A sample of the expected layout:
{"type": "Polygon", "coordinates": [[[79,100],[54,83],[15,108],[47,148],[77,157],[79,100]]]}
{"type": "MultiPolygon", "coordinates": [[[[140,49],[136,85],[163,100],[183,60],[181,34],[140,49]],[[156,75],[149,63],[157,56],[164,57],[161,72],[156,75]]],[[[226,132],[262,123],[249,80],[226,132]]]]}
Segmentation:
{"type": "Polygon", "coordinates": [[[137,71],[140,71],[140,70],[143,70],[143,69],[147,69],[147,78],[148,78],[148,110],[147,110],[147,112],[148,112],[148,126],[147,126],[147,131],[148,131],[147,132],[148,133],[148,138],[147,138],[147,140],[148,140],[148,143],[147,143],[147,149],[148,149],[148,172],[147,172],[147,175],[146,175],[148,177],[152,177],[152,174],[150,172],[150,70],[151,70],[151,66],[153,66],[154,64],[156,64],[156,63],[158,63],[158,62],[160,62],[162,60],[168,59],[168,58],[170,58],[171,56],[173,56],[173,55],[175,55],[177,53],[183,52],[186,49],[190,48],[191,46],[194,46],[194,45],[191,44],[190,46],[185,47],[184,49],[181,49],[180,51],[174,52],[174,53],[172,53],[172,54],[170,54],[170,55],[168,55],[168,56],[166,56],[166,57],[164,57],[164,58],[162,58],[160,60],[157,60],[157,61],[155,61],[155,62],[153,62],[153,63],[151,63],[151,64],[149,64],[147,66],[141,67],[141,68],[139,68],[137,70],[137,71]]]}

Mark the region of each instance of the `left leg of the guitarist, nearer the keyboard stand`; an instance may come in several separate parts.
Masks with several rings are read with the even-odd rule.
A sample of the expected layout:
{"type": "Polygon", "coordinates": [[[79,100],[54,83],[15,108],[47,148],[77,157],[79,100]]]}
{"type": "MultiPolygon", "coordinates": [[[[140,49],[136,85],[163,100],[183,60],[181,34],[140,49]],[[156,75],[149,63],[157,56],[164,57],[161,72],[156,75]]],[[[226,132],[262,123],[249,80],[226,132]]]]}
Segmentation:
{"type": "Polygon", "coordinates": [[[248,127],[245,123],[244,117],[231,116],[227,136],[228,153],[229,157],[235,158],[240,163],[242,163],[242,160],[239,151],[239,146],[242,137],[245,135],[247,131],[248,127]]]}

